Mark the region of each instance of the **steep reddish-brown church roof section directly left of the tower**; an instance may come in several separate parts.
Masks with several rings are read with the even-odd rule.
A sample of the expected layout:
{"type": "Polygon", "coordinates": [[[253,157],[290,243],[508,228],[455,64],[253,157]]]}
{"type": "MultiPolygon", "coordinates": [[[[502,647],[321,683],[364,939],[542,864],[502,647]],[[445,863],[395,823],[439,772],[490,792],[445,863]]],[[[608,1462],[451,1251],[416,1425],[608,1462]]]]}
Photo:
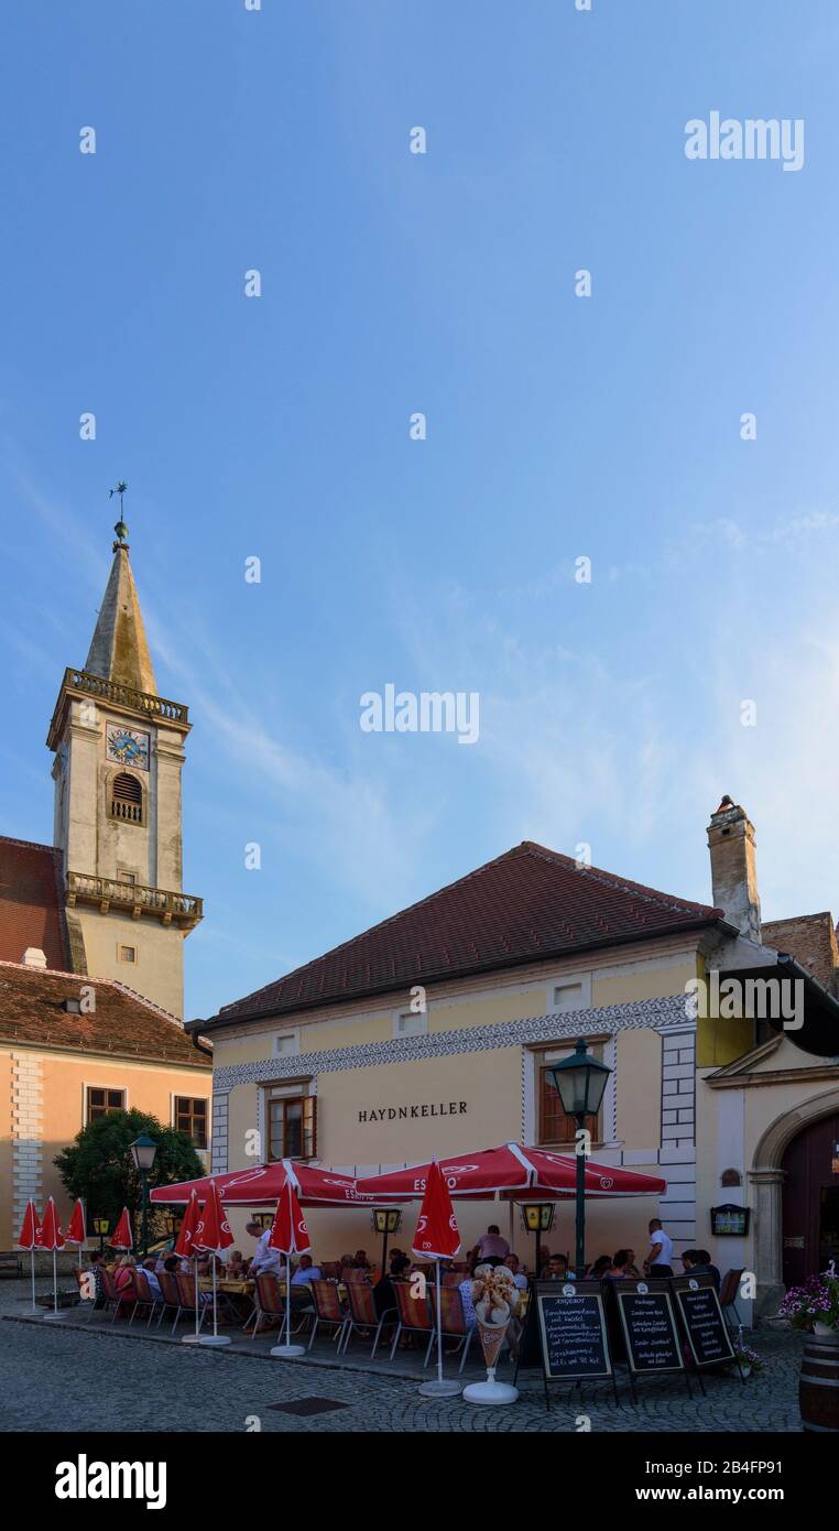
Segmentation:
{"type": "Polygon", "coordinates": [[[0,834],[0,961],[21,961],[28,946],[51,968],[72,968],[61,851],[0,834]]]}

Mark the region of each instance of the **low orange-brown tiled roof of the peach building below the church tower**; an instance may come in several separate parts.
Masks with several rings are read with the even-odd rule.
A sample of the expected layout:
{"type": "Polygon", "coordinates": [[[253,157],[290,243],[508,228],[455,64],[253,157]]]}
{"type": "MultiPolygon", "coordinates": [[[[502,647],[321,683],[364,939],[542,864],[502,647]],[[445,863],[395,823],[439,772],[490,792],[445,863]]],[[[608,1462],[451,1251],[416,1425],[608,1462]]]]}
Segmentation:
{"type": "Polygon", "coordinates": [[[51,972],[0,961],[0,1038],[40,1043],[78,1052],[113,1053],[176,1064],[179,1069],[210,1069],[181,1021],[149,1000],[132,994],[113,978],[51,972]],[[81,1015],[63,1009],[63,1000],[78,1000],[83,986],[93,989],[95,1009],[81,1015]]]}

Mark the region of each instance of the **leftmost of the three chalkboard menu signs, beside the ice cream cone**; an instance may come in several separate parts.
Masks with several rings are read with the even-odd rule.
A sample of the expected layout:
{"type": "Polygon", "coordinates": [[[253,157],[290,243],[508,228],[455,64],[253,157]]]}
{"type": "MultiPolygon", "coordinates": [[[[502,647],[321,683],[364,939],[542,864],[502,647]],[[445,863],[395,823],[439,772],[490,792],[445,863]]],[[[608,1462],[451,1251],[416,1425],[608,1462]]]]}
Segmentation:
{"type": "Polygon", "coordinates": [[[534,1300],[548,1381],[612,1375],[600,1281],[537,1281],[534,1300]]]}

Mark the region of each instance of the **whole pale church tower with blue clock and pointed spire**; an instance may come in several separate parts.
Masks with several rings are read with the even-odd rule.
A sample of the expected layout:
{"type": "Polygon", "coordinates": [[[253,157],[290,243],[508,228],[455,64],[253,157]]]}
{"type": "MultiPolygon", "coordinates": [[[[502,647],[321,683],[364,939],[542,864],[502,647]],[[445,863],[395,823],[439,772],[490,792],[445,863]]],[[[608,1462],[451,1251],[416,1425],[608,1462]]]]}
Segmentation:
{"type": "Polygon", "coordinates": [[[54,844],[63,853],[73,968],[184,1014],[184,939],[202,917],[182,891],[187,707],[158,695],[122,517],[84,669],[64,671],[54,844]]]}

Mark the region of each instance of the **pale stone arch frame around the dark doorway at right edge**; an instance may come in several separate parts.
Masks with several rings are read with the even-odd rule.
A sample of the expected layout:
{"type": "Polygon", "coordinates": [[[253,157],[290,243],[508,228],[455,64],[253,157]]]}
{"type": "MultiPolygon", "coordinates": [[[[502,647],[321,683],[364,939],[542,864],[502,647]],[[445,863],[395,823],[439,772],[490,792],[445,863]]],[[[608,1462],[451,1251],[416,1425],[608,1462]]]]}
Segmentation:
{"type": "Polygon", "coordinates": [[[792,1110],[782,1112],[766,1128],[755,1148],[749,1180],[755,1187],[753,1248],[758,1314],[773,1312],[784,1295],[784,1219],[781,1208],[784,1151],[804,1127],[824,1116],[833,1116],[834,1112],[839,1112],[839,1085],[833,1085],[821,1095],[810,1095],[792,1110]]]}

